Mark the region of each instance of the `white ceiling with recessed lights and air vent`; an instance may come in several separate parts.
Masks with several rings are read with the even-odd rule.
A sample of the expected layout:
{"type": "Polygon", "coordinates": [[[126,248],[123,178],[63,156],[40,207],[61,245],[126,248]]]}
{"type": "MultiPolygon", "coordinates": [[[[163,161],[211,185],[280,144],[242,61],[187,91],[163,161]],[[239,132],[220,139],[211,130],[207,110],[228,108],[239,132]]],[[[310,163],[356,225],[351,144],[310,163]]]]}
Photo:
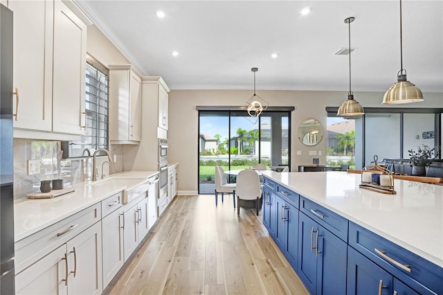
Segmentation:
{"type": "MultiPolygon", "coordinates": [[[[349,46],[347,17],[352,91],[386,91],[401,69],[399,1],[75,3],[138,71],[171,89],[253,89],[257,67],[257,90],[348,91],[349,55],[335,55],[349,46]]],[[[408,80],[443,92],[443,1],[404,0],[402,12],[408,80]]]]}

